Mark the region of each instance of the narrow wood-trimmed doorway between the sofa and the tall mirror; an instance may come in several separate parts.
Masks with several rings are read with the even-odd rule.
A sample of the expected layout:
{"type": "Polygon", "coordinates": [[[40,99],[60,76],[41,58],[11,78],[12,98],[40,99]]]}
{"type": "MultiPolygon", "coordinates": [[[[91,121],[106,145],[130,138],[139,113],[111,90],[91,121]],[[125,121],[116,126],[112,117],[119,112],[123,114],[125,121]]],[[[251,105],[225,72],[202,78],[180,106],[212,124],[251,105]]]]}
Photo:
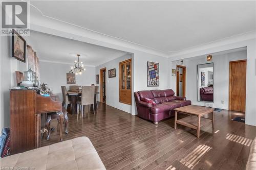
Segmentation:
{"type": "Polygon", "coordinates": [[[186,95],[186,66],[176,65],[176,95],[185,97],[186,95]]]}

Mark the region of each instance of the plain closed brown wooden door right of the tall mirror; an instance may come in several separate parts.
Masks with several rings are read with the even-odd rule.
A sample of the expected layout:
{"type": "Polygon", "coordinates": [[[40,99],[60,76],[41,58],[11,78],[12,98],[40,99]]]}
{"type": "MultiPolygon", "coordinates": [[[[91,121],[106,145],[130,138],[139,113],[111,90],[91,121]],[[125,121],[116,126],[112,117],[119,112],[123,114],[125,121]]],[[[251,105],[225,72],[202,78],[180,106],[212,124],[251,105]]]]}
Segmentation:
{"type": "Polygon", "coordinates": [[[246,60],[229,62],[229,110],[245,112],[246,60]]]}

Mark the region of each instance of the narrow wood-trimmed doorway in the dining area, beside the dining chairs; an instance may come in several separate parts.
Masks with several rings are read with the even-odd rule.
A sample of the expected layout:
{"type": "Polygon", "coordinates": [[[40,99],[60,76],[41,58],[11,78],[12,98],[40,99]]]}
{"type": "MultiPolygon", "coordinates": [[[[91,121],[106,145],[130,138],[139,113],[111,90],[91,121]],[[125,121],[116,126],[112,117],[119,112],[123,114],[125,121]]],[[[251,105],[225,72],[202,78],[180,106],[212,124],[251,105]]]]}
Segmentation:
{"type": "Polygon", "coordinates": [[[100,69],[100,102],[106,103],[106,67],[100,69]]]}

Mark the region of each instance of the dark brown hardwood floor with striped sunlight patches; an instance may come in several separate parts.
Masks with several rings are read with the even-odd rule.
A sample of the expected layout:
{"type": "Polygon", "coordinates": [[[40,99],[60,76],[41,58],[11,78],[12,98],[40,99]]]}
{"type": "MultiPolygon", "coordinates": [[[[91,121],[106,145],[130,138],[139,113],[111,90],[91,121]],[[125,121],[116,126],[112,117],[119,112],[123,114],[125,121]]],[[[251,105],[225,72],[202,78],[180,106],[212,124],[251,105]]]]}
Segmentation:
{"type": "MultiPolygon", "coordinates": [[[[181,125],[174,130],[174,117],[154,125],[99,104],[95,115],[69,114],[69,134],[63,132],[63,139],[89,137],[106,169],[245,169],[250,147],[242,143],[256,136],[256,127],[232,121],[236,116],[243,114],[215,112],[215,129],[205,124],[198,139],[196,130],[181,125]]],[[[51,127],[56,130],[49,140],[44,136],[42,146],[59,142],[57,120],[51,127]]]]}

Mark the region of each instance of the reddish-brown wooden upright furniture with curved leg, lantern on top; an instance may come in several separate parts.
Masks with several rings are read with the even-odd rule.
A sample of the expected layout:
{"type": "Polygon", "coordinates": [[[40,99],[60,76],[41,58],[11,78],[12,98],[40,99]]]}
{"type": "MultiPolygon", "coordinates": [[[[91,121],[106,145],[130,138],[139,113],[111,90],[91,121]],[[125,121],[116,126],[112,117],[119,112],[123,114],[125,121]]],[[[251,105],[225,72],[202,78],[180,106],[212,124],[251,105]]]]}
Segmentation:
{"type": "Polygon", "coordinates": [[[12,155],[40,147],[41,114],[49,112],[58,112],[62,122],[61,102],[41,96],[31,89],[10,90],[10,153],[12,155]]]}

